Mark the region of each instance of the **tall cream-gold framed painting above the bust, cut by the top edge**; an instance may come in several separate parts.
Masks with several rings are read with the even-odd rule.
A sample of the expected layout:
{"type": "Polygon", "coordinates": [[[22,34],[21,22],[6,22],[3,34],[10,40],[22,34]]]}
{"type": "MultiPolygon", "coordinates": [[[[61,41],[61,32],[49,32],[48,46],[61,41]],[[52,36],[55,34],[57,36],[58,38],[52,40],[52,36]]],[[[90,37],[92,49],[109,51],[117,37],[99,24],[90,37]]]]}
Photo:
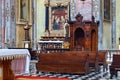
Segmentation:
{"type": "Polygon", "coordinates": [[[26,21],[32,22],[32,0],[18,0],[17,23],[25,24],[26,21]]]}

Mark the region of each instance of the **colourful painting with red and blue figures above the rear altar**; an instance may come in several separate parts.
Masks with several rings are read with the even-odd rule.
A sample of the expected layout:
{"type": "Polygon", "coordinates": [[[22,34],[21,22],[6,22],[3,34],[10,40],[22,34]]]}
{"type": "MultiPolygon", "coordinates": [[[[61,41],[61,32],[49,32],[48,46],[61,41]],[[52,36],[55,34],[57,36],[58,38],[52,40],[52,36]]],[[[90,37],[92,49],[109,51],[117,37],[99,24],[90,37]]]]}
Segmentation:
{"type": "Polygon", "coordinates": [[[56,6],[51,8],[51,26],[52,30],[64,29],[65,20],[68,19],[67,6],[56,6]]]}

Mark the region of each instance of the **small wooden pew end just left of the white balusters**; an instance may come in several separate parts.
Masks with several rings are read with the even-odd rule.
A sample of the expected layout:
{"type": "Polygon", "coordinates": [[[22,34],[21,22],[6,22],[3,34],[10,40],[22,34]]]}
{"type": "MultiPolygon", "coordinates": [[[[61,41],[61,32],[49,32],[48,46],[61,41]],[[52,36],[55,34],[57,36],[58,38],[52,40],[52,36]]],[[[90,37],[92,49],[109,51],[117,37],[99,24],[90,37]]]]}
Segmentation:
{"type": "Polygon", "coordinates": [[[103,71],[108,70],[108,64],[106,62],[106,51],[99,51],[98,52],[98,65],[103,66],[103,71]]]}

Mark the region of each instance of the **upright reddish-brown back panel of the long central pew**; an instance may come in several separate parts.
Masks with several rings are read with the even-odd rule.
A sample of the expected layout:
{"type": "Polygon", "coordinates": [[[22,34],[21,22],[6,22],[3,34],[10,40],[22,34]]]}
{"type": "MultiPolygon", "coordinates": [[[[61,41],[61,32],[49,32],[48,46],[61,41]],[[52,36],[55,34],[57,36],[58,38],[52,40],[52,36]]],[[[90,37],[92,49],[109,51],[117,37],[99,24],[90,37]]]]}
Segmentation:
{"type": "Polygon", "coordinates": [[[85,64],[88,59],[86,53],[51,53],[51,54],[39,54],[39,61],[43,64],[85,64]]]}

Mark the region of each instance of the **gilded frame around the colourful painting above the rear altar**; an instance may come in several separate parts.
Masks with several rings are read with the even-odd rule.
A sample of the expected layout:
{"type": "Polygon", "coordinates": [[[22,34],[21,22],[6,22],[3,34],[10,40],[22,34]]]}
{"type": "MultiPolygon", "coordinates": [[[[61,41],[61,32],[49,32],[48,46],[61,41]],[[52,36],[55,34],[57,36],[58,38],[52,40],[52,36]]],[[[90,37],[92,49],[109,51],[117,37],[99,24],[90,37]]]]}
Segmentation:
{"type": "MultiPolygon", "coordinates": [[[[53,28],[54,26],[54,19],[55,19],[55,11],[57,11],[57,13],[59,13],[59,9],[61,9],[60,11],[65,13],[66,15],[64,15],[64,20],[67,19],[69,20],[69,7],[70,7],[70,3],[69,2],[66,2],[66,3],[56,3],[56,4],[59,4],[59,6],[53,4],[51,5],[50,9],[49,9],[49,30],[50,30],[50,35],[51,36],[64,36],[64,21],[63,23],[61,23],[61,28],[53,28]]],[[[58,15],[59,17],[62,17],[63,15],[58,15]]],[[[58,17],[56,16],[56,17],[58,17]]],[[[59,25],[59,26],[60,26],[59,25]]]]}

